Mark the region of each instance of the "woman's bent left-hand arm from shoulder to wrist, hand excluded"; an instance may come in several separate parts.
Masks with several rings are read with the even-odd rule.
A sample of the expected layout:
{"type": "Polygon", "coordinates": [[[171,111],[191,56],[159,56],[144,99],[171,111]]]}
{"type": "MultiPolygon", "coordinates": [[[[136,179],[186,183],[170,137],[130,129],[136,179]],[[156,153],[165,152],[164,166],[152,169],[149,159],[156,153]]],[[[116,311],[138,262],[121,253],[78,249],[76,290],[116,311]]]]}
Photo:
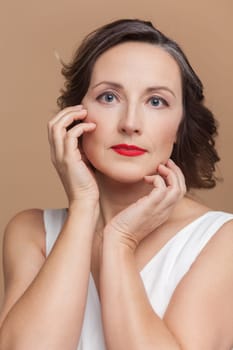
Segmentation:
{"type": "MultiPolygon", "coordinates": [[[[76,349],[86,303],[93,221],[90,206],[72,208],[45,260],[29,238],[44,237],[41,213],[19,214],[4,244],[6,293],[0,348],[76,349]]],[[[94,211],[93,211],[94,212],[94,211]]]]}

